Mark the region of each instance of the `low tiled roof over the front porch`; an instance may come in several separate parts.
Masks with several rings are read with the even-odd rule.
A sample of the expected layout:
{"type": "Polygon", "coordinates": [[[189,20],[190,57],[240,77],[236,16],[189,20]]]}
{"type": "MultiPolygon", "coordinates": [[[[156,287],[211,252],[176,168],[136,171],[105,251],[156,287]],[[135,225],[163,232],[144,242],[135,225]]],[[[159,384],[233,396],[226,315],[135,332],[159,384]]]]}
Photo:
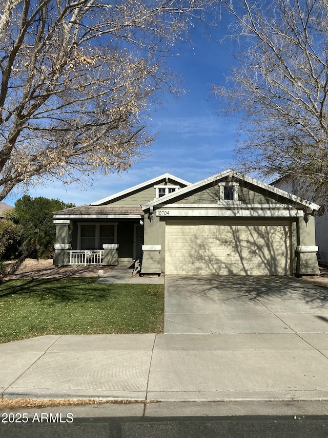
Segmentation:
{"type": "Polygon", "coordinates": [[[120,218],[132,216],[141,218],[144,215],[140,205],[80,205],[53,212],[55,219],[60,218],[120,218]]]}

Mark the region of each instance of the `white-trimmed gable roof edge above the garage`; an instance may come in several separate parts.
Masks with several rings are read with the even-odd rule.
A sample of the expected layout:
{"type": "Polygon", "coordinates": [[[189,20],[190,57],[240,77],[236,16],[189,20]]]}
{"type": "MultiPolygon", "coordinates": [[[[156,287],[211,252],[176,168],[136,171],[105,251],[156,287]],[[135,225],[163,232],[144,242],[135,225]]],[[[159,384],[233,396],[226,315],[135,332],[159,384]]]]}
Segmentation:
{"type": "Polygon", "coordinates": [[[170,200],[174,200],[177,197],[181,197],[181,195],[188,194],[188,193],[194,191],[195,189],[202,188],[202,187],[206,186],[207,184],[214,183],[215,181],[221,180],[223,178],[227,178],[229,176],[234,177],[234,178],[239,179],[239,180],[242,180],[242,181],[245,181],[245,182],[248,182],[248,183],[253,184],[255,186],[258,186],[260,188],[263,188],[263,189],[267,190],[268,192],[282,196],[286,199],[289,199],[292,202],[303,205],[306,208],[310,208],[311,210],[317,211],[320,208],[320,205],[314,204],[313,202],[310,202],[310,201],[306,201],[298,196],[291,195],[290,193],[285,192],[284,190],[281,190],[280,188],[273,187],[269,184],[265,184],[261,181],[254,179],[254,178],[250,178],[250,177],[245,176],[241,173],[237,173],[237,172],[235,172],[235,170],[232,170],[232,169],[225,170],[224,172],[221,172],[217,175],[214,175],[213,177],[206,178],[202,181],[196,182],[195,184],[190,184],[189,186],[187,186],[185,188],[180,188],[179,191],[177,191],[177,192],[171,193],[169,195],[166,195],[166,196],[163,196],[161,198],[157,198],[157,199],[154,199],[153,201],[142,204],[141,208],[142,208],[142,210],[145,211],[149,207],[156,206],[158,204],[162,204],[162,203],[165,203],[165,202],[170,201],[170,200]]]}

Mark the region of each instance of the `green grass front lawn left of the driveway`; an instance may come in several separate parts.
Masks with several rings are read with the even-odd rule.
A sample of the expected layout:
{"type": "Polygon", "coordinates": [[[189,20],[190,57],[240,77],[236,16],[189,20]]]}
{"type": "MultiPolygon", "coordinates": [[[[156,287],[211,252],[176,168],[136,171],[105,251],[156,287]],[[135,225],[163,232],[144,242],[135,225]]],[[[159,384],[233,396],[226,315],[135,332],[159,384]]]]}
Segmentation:
{"type": "Polygon", "coordinates": [[[48,334],[161,333],[164,287],[95,278],[0,283],[0,342],[48,334]]]}

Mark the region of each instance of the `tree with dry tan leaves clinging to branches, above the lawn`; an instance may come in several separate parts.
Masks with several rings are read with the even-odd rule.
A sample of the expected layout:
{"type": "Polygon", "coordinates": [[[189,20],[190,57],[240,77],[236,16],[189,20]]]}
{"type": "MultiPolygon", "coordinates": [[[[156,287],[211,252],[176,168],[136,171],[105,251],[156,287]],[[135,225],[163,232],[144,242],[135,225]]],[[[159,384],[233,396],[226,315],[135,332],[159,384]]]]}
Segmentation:
{"type": "Polygon", "coordinates": [[[163,58],[215,0],[3,0],[0,200],[16,184],[127,169],[153,140],[163,58]],[[80,173],[80,175],[79,175],[80,173]]]}

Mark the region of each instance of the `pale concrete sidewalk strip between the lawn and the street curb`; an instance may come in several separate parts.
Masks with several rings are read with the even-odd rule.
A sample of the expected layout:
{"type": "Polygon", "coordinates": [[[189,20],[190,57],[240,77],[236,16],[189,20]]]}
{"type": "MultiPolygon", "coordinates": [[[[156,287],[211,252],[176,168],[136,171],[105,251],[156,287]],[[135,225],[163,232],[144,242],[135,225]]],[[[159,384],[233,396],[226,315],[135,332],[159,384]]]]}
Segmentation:
{"type": "Polygon", "coordinates": [[[0,345],[4,398],[328,400],[328,334],[49,335],[0,345]]]}

